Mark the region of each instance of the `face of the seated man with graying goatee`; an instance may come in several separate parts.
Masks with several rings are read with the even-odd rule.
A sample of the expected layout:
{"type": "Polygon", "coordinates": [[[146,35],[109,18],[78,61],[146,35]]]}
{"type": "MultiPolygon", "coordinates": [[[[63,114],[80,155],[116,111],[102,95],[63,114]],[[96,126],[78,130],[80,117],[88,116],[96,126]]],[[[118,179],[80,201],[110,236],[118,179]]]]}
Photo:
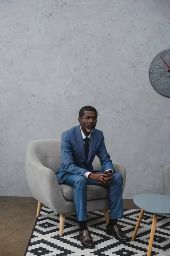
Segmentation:
{"type": "Polygon", "coordinates": [[[96,127],[97,113],[94,111],[84,111],[84,115],[78,120],[81,125],[82,131],[91,133],[96,127]]]}

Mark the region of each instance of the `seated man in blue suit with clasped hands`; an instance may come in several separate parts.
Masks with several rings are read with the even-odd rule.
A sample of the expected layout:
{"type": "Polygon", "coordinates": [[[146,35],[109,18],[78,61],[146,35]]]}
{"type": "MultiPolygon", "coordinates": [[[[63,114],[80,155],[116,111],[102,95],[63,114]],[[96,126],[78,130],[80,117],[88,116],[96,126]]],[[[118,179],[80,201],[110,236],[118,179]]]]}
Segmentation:
{"type": "Polygon", "coordinates": [[[130,241],[117,225],[117,219],[123,217],[122,175],[113,169],[102,131],[95,129],[97,115],[96,109],[91,106],[81,108],[78,118],[80,125],[62,134],[62,164],[56,175],[60,184],[74,188],[79,238],[81,244],[87,248],[95,247],[86,224],[87,185],[108,186],[111,206],[106,233],[119,241],[130,241]],[[93,170],[95,155],[99,157],[102,172],[93,170]]]}

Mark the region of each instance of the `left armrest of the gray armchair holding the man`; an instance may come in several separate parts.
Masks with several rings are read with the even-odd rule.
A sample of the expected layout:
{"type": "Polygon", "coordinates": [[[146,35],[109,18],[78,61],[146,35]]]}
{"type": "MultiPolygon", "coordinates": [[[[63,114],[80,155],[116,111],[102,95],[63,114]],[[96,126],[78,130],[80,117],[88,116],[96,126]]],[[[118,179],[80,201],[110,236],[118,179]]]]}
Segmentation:
{"type": "Polygon", "coordinates": [[[60,214],[67,202],[59,188],[57,178],[51,169],[40,163],[29,145],[26,153],[26,174],[33,197],[60,214]]]}

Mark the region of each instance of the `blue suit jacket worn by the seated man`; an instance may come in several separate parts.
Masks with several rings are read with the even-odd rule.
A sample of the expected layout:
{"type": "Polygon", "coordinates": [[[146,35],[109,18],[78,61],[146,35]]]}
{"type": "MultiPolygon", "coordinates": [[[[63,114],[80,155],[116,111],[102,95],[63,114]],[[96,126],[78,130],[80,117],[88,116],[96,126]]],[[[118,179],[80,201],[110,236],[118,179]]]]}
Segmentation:
{"type": "Polygon", "coordinates": [[[61,139],[61,160],[62,164],[57,172],[57,180],[63,183],[68,175],[83,175],[85,172],[93,172],[92,162],[95,156],[99,157],[102,170],[113,170],[113,164],[105,147],[105,139],[102,131],[94,129],[91,133],[91,145],[88,154],[88,161],[85,164],[85,148],[83,145],[80,125],[65,131],[61,139]]]}

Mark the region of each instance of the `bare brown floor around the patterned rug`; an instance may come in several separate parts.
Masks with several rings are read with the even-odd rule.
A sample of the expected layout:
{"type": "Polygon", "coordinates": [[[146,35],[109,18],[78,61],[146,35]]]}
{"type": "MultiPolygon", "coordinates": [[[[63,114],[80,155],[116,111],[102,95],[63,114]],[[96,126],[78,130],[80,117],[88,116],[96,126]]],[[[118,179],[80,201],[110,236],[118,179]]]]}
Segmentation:
{"type": "MultiPolygon", "coordinates": [[[[137,208],[125,199],[124,208],[137,208]]],[[[0,256],[24,256],[36,220],[37,201],[0,196],[0,256]]]]}

